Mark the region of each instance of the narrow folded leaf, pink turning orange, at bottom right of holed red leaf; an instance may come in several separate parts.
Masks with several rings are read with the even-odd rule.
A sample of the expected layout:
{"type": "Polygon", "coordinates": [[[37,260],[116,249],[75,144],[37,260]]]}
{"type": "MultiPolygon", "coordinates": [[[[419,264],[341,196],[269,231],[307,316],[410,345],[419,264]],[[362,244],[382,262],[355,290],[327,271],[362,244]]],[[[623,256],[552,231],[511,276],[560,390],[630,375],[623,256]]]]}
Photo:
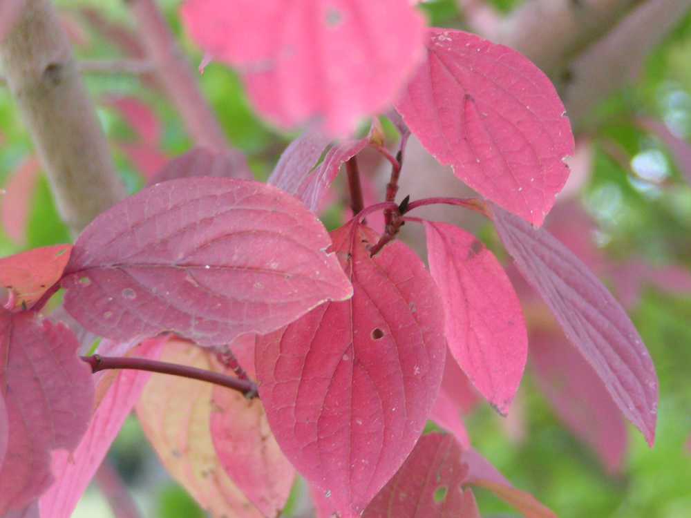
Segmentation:
{"type": "Polygon", "coordinates": [[[530,493],[521,491],[511,486],[497,468],[484,459],[475,450],[463,452],[463,462],[468,466],[466,483],[480,488],[489,489],[511,506],[520,510],[526,518],[557,518],[557,516],[545,507],[530,493]]]}

